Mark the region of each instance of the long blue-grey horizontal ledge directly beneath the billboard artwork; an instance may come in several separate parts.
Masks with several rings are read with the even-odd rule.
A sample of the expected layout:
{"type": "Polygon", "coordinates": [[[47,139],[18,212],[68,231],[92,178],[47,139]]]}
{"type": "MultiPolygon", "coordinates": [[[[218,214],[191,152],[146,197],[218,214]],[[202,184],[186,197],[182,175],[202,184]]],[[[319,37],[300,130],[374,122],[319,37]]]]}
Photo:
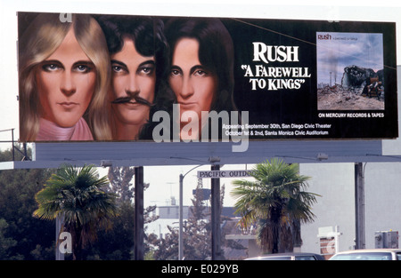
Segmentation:
{"type": "Polygon", "coordinates": [[[231,142],[37,142],[34,144],[36,161],[15,162],[13,169],[57,168],[66,161],[78,165],[99,165],[101,161],[110,161],[113,166],[182,165],[184,157],[187,157],[186,165],[197,165],[209,156],[218,156],[220,164],[260,163],[273,157],[281,157],[286,163],[401,161],[401,155],[383,155],[381,140],[260,140],[249,143],[246,152],[233,153],[235,143],[231,142]],[[317,155],[323,150],[322,160],[317,155]]]}

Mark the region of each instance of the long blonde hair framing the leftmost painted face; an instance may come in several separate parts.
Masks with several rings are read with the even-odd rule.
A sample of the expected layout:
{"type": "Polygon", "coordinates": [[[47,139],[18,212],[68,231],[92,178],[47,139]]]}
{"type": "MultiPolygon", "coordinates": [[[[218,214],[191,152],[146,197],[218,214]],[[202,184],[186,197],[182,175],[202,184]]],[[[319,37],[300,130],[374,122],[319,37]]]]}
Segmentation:
{"type": "Polygon", "coordinates": [[[19,42],[21,141],[34,141],[39,130],[37,68],[55,52],[70,28],[74,29],[78,44],[92,60],[96,70],[94,95],[86,109],[86,122],[94,139],[111,139],[110,108],[107,104],[110,57],[102,28],[87,14],[72,14],[71,22],[61,22],[58,13],[40,13],[20,37],[19,42]]]}

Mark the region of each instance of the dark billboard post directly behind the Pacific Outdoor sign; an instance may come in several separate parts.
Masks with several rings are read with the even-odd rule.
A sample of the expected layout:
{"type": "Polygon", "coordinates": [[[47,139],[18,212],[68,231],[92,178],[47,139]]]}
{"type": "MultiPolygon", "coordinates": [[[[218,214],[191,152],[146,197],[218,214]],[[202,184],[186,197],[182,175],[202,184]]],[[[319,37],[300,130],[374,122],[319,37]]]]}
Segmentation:
{"type": "MultiPolygon", "coordinates": [[[[220,165],[212,165],[212,171],[219,171],[220,165]]],[[[211,251],[212,260],[222,259],[220,229],[220,179],[211,179],[211,251]]]]}

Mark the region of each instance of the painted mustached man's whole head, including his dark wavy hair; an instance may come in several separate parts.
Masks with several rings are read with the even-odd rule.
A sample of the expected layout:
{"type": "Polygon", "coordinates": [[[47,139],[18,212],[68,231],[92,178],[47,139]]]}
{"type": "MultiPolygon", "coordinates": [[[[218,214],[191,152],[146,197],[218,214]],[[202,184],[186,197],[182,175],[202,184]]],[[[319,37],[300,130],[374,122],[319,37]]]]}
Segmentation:
{"type": "MultiPolygon", "coordinates": [[[[161,20],[148,17],[101,17],[111,63],[111,130],[115,140],[148,139],[144,135],[157,107],[166,43],[161,20]]],[[[159,98],[160,99],[160,98],[159,98]]]]}

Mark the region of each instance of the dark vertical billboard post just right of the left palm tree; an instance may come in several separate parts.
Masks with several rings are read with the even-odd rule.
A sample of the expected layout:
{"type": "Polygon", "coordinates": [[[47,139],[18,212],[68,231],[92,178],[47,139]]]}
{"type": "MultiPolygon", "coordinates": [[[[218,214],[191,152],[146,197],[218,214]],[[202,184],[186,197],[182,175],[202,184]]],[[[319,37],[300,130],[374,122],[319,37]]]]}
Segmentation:
{"type": "Polygon", "coordinates": [[[135,167],[135,260],[143,260],[143,166],[135,167]]]}

